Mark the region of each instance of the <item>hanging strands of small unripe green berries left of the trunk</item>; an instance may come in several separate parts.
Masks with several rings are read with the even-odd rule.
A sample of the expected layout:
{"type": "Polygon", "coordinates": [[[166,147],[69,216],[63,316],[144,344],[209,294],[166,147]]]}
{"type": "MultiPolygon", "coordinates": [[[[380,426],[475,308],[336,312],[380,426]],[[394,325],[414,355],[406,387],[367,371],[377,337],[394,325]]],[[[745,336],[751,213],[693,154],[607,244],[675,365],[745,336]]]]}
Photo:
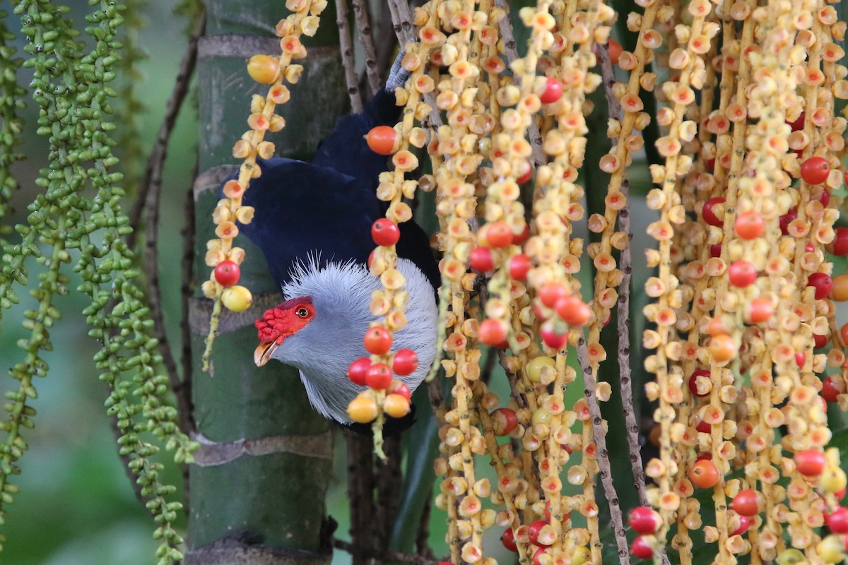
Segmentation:
{"type": "Polygon", "coordinates": [[[71,262],[74,251],[73,269],[82,280],[77,290],[92,301],[83,310],[89,335],[102,345],[94,361],[100,379],[111,388],[105,404],[121,432],[120,454],[130,460],[158,524],[154,537],[162,544],[157,557],[165,564],[182,557],[177,549],[182,539],[173,526],[181,503],[170,501],[176,487],[159,479],[163,464],[151,460],[159,452],[153,441],[174,451],[176,463],[190,463],[197,444],[181,432],[176,408],[166,401],[168,378],[159,371],[153,320],[134,282],[138,271],[124,241],[131,227],[121,211],[123,175],[114,170],[116,142],[109,132],[115,125],[108,121],[113,114],[109,100],[117,92],[107,85],[121,60],[118,51],[123,45],[115,32],[124,23],[125,6],[108,0],[89,4],[93,10],[86,15],[86,43],[70,23],[69,8],[49,0],[14,3],[28,41],[25,52],[30,58],[24,66],[35,71],[31,86],[39,108],[37,131],[48,137],[50,154],[49,166],[36,181],[43,193],[32,202],[26,224],[16,227],[20,244],[3,250],[0,306],[17,302],[13,286],[27,283],[31,258],[40,269],[39,283],[30,292],[37,306],[25,313],[24,325],[31,334],[19,342],[25,360],[10,372],[20,385],[7,394],[9,417],[0,424],[7,433],[0,443],[0,523],[3,505],[15,491],[8,477],[19,472],[14,463],[26,448],[20,432],[32,426],[35,415],[27,405],[36,396],[33,377],[47,373],[40,352],[50,349],[49,328],[59,319],[53,298],[66,292],[70,279],[62,266],[71,262]]]}

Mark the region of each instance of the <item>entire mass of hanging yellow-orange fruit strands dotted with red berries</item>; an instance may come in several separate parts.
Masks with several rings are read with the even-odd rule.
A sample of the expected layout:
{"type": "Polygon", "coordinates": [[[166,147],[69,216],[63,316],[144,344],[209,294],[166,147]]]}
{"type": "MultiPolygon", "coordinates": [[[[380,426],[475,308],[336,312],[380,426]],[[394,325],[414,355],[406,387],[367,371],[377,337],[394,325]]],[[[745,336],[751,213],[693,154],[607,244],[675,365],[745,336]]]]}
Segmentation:
{"type": "MultiPolygon", "coordinates": [[[[490,0],[416,8],[417,41],[402,60],[410,79],[396,91],[403,119],[368,136],[393,168],[379,179],[388,213],[373,226],[369,261],[382,280],[371,302],[381,321],[363,336],[370,356],[349,368],[350,379],[368,386],[349,413],[374,423],[379,452],[383,418],[409,410],[409,391],[394,376],[414,371],[416,359],[391,350],[406,303],[395,244],[412,214],[404,199],[435,191],[439,350],[453,382],[438,411],[434,465],[451,561],[494,565],[482,539],[497,527],[522,562],[600,563],[597,489],[610,461],[599,402],[611,385],[594,375],[604,374],[609,353],[601,330],[612,308],[627,304],[627,172],[654,123],[659,158],[649,163],[653,188],[644,200],[655,218],[647,231],[656,246],[644,255],[656,269],[644,284],[650,330],[625,343],[624,356],[627,346],[641,349],[656,376],[644,388],[655,403],[658,455],[644,467],[646,503],[628,517],[629,543],[616,535],[619,553],[659,558],[670,550],[681,563],[695,550],[722,564],[743,556],[840,562],[846,479],[828,447],[826,411],[848,408],[848,320],[834,307],[848,299],[848,274],[834,274],[831,262],[848,255],[848,229],[834,225],[845,194],[848,121],[835,113],[848,98],[845,22],[824,0],[636,4],[631,14],[577,0],[522,8],[522,57],[505,8],[490,0]],[[638,36],[632,50],[610,38],[616,18],[638,36]],[[600,46],[615,65],[608,85],[600,46]],[[584,153],[587,95],[598,88],[613,143],[596,165],[584,153]],[[656,98],[656,113],[645,111],[645,97],[656,98]],[[430,172],[420,174],[425,152],[430,172]],[[595,166],[609,175],[605,207],[586,218],[578,180],[595,166]],[[592,243],[574,235],[583,224],[597,235],[592,243]],[[581,262],[591,264],[590,289],[577,278],[581,262]],[[483,379],[487,351],[509,375],[508,400],[483,379]],[[579,393],[568,397],[578,400],[566,405],[572,387],[579,393]],[[497,484],[478,476],[481,461],[495,468],[497,484]],[[564,492],[564,481],[577,488],[564,492]],[[710,504],[701,506],[699,490],[710,504]],[[694,547],[694,530],[706,546],[694,547]]],[[[271,91],[282,76],[296,80],[289,63],[303,52],[292,37],[314,31],[317,6],[290,6],[296,14],[277,27],[276,66],[252,60],[252,74],[274,83],[271,91]]],[[[282,124],[273,104],[285,100],[277,98],[254,99],[251,130],[234,150],[246,158],[234,189],[258,170],[251,159],[272,151],[259,140],[282,124]]],[[[238,213],[235,200],[222,202],[238,213]]],[[[210,264],[238,263],[220,241],[210,264]]],[[[228,266],[220,270],[232,280],[228,266]]],[[[638,476],[639,457],[631,459],[638,476]]],[[[605,496],[621,531],[616,496],[605,496]]]]}

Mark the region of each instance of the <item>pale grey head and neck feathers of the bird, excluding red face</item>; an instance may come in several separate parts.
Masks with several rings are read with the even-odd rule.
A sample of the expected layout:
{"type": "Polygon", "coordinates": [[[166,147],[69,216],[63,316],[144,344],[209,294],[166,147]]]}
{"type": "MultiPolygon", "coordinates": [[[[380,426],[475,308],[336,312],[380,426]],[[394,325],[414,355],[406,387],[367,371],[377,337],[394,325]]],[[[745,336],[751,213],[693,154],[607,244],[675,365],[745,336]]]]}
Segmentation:
{"type": "MultiPolygon", "coordinates": [[[[398,270],[406,277],[410,293],[406,307],[407,325],[394,335],[392,351],[409,348],[416,352],[415,373],[399,377],[415,391],[432,364],[436,348],[438,310],[432,285],[416,266],[400,259],[398,270]]],[[[350,365],[365,352],[362,338],[372,321],[371,292],[381,288],[365,265],[316,262],[299,264],[291,282],[283,286],[287,298],[310,296],[315,319],[277,347],[273,358],[300,369],[312,406],[326,418],[349,423],[348,403],[363,387],[347,377],[350,365]]]]}

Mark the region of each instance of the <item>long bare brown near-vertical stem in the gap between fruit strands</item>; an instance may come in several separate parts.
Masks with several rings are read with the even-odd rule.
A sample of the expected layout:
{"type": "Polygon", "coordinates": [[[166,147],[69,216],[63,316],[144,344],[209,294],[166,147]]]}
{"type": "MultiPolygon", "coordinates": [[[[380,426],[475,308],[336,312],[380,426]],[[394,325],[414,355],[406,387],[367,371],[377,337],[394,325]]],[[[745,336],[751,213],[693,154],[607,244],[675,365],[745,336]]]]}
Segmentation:
{"type": "MultiPolygon", "coordinates": [[[[622,106],[613,92],[616,77],[612,69],[609,49],[605,45],[599,45],[597,53],[600,63],[600,75],[604,81],[608,115],[612,119],[621,119],[622,106]]],[[[616,144],[617,141],[617,139],[613,139],[612,143],[616,144]]],[[[636,414],[633,410],[633,380],[630,370],[630,280],[633,273],[630,241],[633,239],[633,232],[630,227],[629,187],[630,181],[627,175],[625,175],[622,179],[621,191],[627,203],[621,212],[618,213],[618,229],[628,235],[628,246],[622,249],[619,258],[619,269],[622,270],[623,275],[622,284],[618,288],[618,368],[624,421],[627,425],[630,467],[633,469],[633,485],[636,487],[636,492],[639,495],[639,504],[648,506],[648,496],[644,488],[644,468],[642,467],[642,456],[639,450],[639,424],[636,423],[636,414]]]]}

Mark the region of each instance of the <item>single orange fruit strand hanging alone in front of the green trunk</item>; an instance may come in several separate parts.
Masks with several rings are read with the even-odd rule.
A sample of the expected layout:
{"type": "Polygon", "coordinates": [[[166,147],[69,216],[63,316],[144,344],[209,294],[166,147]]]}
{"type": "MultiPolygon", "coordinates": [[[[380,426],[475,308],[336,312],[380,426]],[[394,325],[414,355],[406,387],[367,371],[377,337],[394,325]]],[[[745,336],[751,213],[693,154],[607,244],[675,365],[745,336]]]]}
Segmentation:
{"type": "Polygon", "coordinates": [[[206,337],[204,370],[209,366],[209,355],[220,319],[220,305],[223,304],[232,312],[243,312],[253,302],[248,288],[237,285],[244,250],[232,246],[232,240],[238,235],[236,220],[249,224],[254,217],[254,208],[243,206],[242,197],[244,191],[248,190],[250,180],[261,173],[256,158],[274,156],[276,147],[273,142],[265,141],[265,132],[279,131],[286,126],[286,120],[276,114],[276,106],[285,104],[291,98],[291,92],[283,83],[296,84],[303,73],[303,65],[293,64],[292,61],[306,57],[306,47],[300,42],[300,36],[315,35],[320,23],[319,15],[326,8],[326,0],[287,0],[286,8],[292,14],[276,25],[281,53],[274,56],[257,54],[248,59],[248,75],[259,84],[268,85],[268,93],[265,96],[254,94],[251,99],[247,120],[249,129],[232,147],[232,156],[243,159],[243,163],[237,179],[229,180],[224,185],[224,197],[212,214],[217,239],[209,240],[206,244],[206,264],[213,269],[202,290],[204,296],[215,299],[215,306],[209,320],[209,335],[206,337]]]}

